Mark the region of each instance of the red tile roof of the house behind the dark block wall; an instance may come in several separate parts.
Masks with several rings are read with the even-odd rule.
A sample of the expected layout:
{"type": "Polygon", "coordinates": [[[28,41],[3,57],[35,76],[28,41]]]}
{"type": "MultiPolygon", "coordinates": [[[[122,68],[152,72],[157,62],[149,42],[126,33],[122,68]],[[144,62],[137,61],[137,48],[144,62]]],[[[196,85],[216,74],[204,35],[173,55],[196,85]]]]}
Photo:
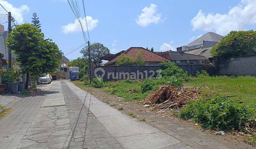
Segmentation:
{"type": "MultiPolygon", "coordinates": [[[[151,52],[149,50],[146,50],[145,48],[142,47],[130,47],[128,50],[126,50],[123,54],[128,55],[130,57],[135,58],[135,56],[137,55],[137,53],[139,51],[142,51],[142,60],[144,62],[162,62],[162,61],[170,61],[168,59],[166,59],[165,57],[162,57],[158,54],[155,54],[154,52],[151,52]]],[[[121,55],[119,55],[121,56],[121,55]]],[[[111,64],[115,64],[117,58],[119,57],[115,57],[113,60],[107,62],[105,65],[111,65],[111,64]]]]}

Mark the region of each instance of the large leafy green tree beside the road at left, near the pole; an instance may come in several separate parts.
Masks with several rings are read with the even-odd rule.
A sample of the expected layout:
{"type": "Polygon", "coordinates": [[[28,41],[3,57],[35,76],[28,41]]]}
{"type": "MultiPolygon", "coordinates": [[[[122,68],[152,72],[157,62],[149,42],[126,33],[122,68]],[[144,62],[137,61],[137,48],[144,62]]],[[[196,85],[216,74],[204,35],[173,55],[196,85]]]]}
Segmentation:
{"type": "Polygon", "coordinates": [[[44,39],[44,34],[29,23],[16,26],[5,43],[9,50],[17,54],[21,70],[27,73],[26,88],[28,74],[38,76],[50,73],[61,64],[62,53],[58,46],[51,39],[44,39]]]}

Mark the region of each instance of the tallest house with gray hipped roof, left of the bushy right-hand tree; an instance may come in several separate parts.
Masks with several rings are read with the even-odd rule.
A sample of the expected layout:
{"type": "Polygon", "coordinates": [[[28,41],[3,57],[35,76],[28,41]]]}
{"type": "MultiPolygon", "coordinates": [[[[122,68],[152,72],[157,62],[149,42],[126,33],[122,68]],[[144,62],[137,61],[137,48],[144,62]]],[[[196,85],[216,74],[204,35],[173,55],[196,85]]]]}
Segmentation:
{"type": "Polygon", "coordinates": [[[210,61],[212,61],[213,57],[210,54],[210,50],[214,45],[216,45],[221,39],[222,35],[208,32],[198,39],[194,40],[188,45],[183,45],[181,47],[176,48],[177,52],[183,51],[187,54],[194,54],[207,57],[210,61]]]}

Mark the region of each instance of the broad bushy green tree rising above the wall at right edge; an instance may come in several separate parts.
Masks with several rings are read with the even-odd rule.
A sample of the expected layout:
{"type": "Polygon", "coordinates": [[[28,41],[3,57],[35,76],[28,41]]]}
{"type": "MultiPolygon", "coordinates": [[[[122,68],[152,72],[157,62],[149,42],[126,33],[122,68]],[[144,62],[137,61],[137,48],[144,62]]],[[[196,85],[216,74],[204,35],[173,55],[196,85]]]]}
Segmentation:
{"type": "Polygon", "coordinates": [[[212,48],[210,53],[220,59],[256,54],[256,31],[231,31],[212,48]]]}

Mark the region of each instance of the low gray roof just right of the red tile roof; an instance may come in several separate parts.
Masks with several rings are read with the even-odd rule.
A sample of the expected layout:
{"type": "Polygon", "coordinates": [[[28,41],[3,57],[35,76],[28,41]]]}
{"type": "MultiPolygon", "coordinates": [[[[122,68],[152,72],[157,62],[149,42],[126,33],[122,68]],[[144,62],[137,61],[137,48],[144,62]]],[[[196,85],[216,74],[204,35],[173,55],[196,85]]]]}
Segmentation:
{"type": "Polygon", "coordinates": [[[206,60],[206,57],[188,54],[184,52],[176,52],[176,51],[166,51],[159,53],[159,55],[164,56],[170,60],[206,60]]]}

